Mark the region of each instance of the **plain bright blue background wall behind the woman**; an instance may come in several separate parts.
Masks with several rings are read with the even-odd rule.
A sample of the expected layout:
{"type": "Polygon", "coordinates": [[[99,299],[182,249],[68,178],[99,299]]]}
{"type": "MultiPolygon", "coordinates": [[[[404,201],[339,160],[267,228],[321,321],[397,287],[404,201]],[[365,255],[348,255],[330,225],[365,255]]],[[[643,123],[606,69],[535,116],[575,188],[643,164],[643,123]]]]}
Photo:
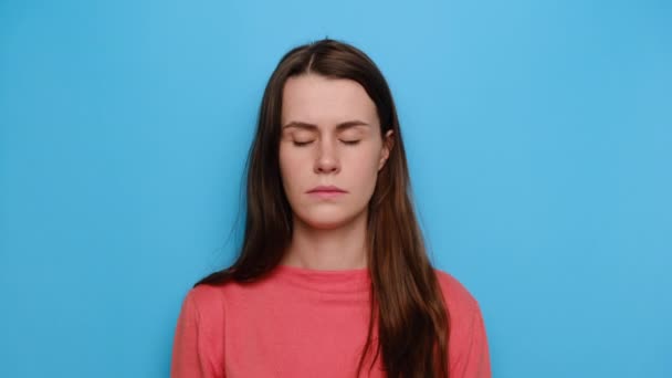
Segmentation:
{"type": "Polygon", "coordinates": [[[388,78],[494,376],[672,377],[662,0],[0,1],[1,377],[168,376],[263,86],[324,36],[388,78]]]}

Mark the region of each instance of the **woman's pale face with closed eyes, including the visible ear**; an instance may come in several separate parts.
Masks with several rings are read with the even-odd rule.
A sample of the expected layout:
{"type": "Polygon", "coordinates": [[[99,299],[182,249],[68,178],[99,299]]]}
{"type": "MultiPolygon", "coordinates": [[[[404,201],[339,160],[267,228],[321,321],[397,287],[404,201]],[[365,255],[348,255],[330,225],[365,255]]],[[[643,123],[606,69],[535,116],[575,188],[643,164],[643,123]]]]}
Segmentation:
{"type": "Polygon", "coordinates": [[[376,105],[359,83],[306,74],[284,86],[280,169],[295,220],[333,229],[366,213],[391,148],[376,105]],[[335,186],[342,193],[311,192],[335,186]]]}

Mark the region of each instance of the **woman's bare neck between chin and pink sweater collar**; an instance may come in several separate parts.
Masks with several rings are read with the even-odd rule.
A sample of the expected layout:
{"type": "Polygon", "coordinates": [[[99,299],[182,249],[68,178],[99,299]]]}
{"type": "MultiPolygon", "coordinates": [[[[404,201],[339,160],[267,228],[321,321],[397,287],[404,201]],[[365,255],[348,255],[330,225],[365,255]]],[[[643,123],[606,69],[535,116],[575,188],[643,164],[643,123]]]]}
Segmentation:
{"type": "Polygon", "coordinates": [[[294,217],[292,242],[282,264],[314,270],[367,266],[367,214],[337,228],[316,229],[294,217]]]}

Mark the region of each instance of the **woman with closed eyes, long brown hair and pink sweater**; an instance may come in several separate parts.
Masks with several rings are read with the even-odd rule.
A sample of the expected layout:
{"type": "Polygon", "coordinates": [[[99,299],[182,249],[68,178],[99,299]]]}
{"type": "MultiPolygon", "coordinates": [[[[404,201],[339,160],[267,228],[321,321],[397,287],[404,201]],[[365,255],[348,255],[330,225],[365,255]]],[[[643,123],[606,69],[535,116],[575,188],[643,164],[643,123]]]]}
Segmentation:
{"type": "Polygon", "coordinates": [[[248,160],[240,255],[186,295],[171,377],[490,377],[477,302],[432,267],[390,90],[360,50],[287,52],[248,160]]]}

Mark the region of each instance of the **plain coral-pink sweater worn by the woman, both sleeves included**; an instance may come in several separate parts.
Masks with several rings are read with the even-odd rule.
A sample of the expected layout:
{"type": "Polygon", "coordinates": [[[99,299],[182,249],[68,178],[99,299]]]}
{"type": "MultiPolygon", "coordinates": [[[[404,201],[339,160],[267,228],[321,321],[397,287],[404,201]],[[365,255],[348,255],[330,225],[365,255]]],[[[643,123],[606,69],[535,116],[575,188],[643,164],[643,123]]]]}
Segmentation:
{"type": "MultiPolygon", "coordinates": [[[[434,271],[452,322],[450,377],[490,378],[477,302],[452,275],[434,271]]],[[[369,283],[366,269],[279,265],[254,284],[193,287],[177,321],[170,377],[355,377],[367,335],[369,283]]],[[[365,377],[385,377],[380,356],[370,375],[368,367],[365,377]]]]}

